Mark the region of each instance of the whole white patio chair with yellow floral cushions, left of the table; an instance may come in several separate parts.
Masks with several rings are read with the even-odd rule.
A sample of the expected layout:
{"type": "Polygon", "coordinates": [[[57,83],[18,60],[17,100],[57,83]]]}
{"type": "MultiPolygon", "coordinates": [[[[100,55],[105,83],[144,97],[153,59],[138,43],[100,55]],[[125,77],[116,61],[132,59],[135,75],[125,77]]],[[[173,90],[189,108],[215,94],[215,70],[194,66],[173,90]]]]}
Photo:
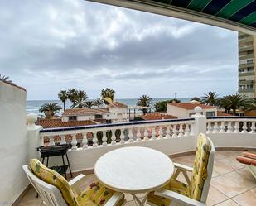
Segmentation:
{"type": "Polygon", "coordinates": [[[78,175],[68,182],[36,159],[30,161],[30,166],[23,165],[22,168],[47,206],[121,206],[125,202],[122,193],[105,188],[98,181],[86,187],[85,175],[78,175]]]}

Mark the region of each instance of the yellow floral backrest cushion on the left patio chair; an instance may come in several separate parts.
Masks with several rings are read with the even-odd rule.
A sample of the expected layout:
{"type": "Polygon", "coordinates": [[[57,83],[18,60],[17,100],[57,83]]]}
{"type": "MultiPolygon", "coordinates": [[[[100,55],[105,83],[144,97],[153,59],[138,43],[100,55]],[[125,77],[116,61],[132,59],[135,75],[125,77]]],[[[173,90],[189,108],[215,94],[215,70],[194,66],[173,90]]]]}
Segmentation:
{"type": "Polygon", "coordinates": [[[75,195],[73,194],[72,189],[70,189],[70,184],[59,173],[47,168],[39,160],[36,159],[32,159],[30,161],[30,169],[41,180],[45,181],[48,184],[52,184],[60,189],[60,192],[65,199],[65,202],[69,206],[79,205],[77,200],[75,199],[75,195]]]}

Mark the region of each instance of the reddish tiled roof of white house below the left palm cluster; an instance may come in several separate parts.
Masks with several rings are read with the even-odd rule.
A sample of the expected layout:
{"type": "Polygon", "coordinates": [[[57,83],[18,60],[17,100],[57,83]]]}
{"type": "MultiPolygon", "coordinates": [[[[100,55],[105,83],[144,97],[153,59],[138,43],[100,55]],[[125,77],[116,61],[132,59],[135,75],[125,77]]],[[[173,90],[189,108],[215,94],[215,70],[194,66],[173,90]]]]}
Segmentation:
{"type": "Polygon", "coordinates": [[[62,116],[91,115],[105,113],[109,113],[108,108],[69,108],[64,111],[62,116]]]}

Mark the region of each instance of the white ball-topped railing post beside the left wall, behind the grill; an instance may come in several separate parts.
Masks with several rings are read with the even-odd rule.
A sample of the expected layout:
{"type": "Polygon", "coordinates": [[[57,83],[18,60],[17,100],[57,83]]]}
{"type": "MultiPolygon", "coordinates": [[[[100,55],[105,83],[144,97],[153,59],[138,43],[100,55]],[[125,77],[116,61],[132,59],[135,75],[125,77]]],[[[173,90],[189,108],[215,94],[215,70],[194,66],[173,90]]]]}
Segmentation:
{"type": "Polygon", "coordinates": [[[40,137],[41,126],[36,125],[37,115],[27,114],[27,139],[28,139],[28,158],[38,158],[39,154],[36,147],[44,145],[43,137],[40,137]]]}

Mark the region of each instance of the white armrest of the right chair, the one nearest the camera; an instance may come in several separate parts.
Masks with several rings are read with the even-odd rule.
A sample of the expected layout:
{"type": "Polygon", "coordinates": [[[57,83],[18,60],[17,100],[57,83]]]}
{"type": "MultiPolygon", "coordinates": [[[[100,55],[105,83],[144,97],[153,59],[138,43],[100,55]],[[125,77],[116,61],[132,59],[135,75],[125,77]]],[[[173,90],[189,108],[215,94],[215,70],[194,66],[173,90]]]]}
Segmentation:
{"type": "Polygon", "coordinates": [[[167,199],[171,199],[172,201],[180,203],[182,205],[186,204],[188,206],[206,206],[205,203],[201,203],[196,199],[191,199],[189,197],[186,197],[185,195],[178,194],[167,189],[159,189],[155,192],[155,194],[158,196],[165,197],[167,199]]]}

